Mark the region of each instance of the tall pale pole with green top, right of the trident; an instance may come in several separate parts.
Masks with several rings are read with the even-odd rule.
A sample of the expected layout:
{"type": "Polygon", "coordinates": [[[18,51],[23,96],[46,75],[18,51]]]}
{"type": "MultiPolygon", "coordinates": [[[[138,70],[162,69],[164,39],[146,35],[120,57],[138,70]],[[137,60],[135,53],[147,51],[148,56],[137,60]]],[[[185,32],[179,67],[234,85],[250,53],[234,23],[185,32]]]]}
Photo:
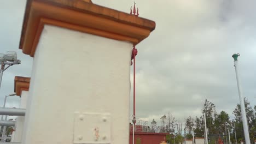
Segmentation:
{"type": "Polygon", "coordinates": [[[245,101],[243,101],[242,88],[240,86],[240,77],[239,77],[238,61],[237,61],[238,56],[240,56],[239,53],[232,55],[235,63],[234,66],[236,71],[236,81],[237,81],[238,95],[240,99],[240,107],[241,107],[242,121],[243,121],[243,133],[245,134],[246,144],[250,144],[251,141],[249,137],[248,123],[247,123],[247,117],[246,117],[246,111],[245,111],[245,101]]]}

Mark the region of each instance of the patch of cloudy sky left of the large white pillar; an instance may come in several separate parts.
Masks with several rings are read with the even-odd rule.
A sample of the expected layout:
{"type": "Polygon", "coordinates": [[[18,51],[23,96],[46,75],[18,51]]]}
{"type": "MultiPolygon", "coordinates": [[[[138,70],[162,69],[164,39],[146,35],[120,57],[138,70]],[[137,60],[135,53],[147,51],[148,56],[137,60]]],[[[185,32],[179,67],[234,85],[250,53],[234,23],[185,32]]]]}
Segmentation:
{"type": "MultiPolygon", "coordinates": [[[[3,73],[0,88],[0,105],[3,104],[4,95],[14,92],[14,76],[30,76],[32,58],[19,50],[21,25],[25,11],[26,1],[2,1],[0,5],[0,52],[16,51],[21,64],[9,67],[3,73]]],[[[18,107],[19,97],[8,97],[7,107],[18,107]]]]}

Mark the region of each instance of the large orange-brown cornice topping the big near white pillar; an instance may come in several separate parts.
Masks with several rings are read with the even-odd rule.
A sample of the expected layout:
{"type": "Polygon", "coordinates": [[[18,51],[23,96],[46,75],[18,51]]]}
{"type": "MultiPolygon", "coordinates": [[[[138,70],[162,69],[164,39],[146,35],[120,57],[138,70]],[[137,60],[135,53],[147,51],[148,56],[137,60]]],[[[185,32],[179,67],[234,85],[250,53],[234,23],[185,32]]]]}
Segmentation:
{"type": "Polygon", "coordinates": [[[155,22],[92,4],[89,0],[27,0],[20,49],[34,56],[44,25],[53,25],[138,44],[155,22]]]}

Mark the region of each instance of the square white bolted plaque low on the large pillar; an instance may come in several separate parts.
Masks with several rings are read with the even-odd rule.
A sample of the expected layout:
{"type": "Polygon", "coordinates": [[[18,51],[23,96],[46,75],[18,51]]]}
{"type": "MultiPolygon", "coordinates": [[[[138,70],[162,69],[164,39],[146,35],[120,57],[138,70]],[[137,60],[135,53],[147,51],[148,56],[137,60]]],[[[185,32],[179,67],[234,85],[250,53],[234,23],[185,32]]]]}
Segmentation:
{"type": "Polygon", "coordinates": [[[75,112],[74,143],[110,143],[110,114],[75,112]]]}

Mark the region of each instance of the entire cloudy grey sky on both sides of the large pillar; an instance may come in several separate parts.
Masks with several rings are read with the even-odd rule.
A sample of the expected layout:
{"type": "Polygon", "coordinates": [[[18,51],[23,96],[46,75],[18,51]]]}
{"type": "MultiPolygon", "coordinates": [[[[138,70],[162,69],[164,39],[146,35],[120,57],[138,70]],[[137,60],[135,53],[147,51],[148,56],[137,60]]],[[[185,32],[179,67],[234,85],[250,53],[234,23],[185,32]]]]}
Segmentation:
{"type": "MultiPolygon", "coordinates": [[[[92,2],[126,13],[133,4],[92,2]]],[[[0,5],[0,52],[16,51],[22,63],[4,72],[0,104],[4,95],[14,92],[15,75],[31,75],[33,59],[18,49],[25,3],[2,0],[0,5]]],[[[216,105],[217,112],[234,117],[239,99],[233,53],[241,54],[243,95],[256,105],[256,1],[136,0],[136,4],[139,16],[156,22],[155,31],[137,45],[137,117],[151,122],[170,112],[184,121],[189,115],[201,115],[205,99],[216,105]]],[[[19,97],[9,97],[7,106],[18,107],[19,97]]]]}

